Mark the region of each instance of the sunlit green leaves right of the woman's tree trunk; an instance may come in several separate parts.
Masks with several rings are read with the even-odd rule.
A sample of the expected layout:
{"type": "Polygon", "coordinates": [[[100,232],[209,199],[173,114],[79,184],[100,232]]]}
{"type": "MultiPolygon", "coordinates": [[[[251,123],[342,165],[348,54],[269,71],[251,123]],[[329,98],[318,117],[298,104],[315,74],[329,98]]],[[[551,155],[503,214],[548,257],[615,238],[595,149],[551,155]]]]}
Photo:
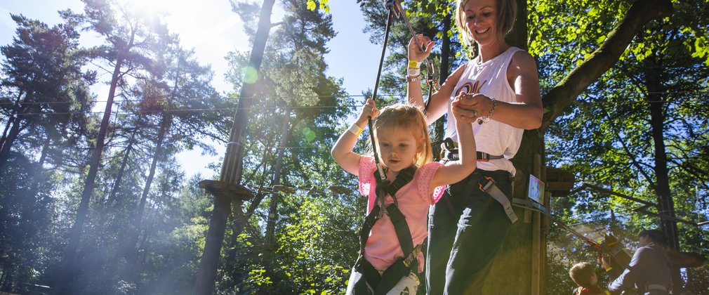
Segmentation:
{"type": "MultiPolygon", "coordinates": [[[[696,168],[705,167],[709,160],[703,152],[709,139],[703,106],[709,72],[701,54],[688,46],[702,34],[693,32],[705,33],[709,26],[707,10],[699,7],[700,2],[674,1],[675,13],[651,22],[628,46],[620,62],[554,122],[546,135],[547,165],[574,173],[577,186],[596,184],[654,204],[667,182],[678,218],[693,222],[707,219],[703,200],[709,178],[697,174],[696,168]],[[684,9],[687,6],[692,9],[684,9]]],[[[579,16],[564,5],[550,1],[530,14],[534,16],[530,18],[535,32],[532,40],[538,40],[532,41],[530,50],[540,55],[542,87],[547,89],[574,63],[584,60],[605,39],[614,22],[609,20],[618,19],[627,9],[624,1],[618,1],[586,9],[593,13],[579,16]],[[579,18],[579,26],[569,18],[579,18]],[[564,26],[554,25],[562,23],[564,26]],[[574,35],[578,29],[584,34],[574,35]]],[[[641,204],[599,191],[581,191],[557,200],[557,218],[572,224],[591,223],[589,232],[596,235],[613,232],[630,245],[629,249],[635,245],[638,230],[661,225],[659,218],[632,210],[641,204]]],[[[681,250],[709,254],[702,228],[684,223],[678,223],[678,228],[681,250]]],[[[550,239],[550,247],[573,242],[562,235],[550,239]]],[[[555,253],[558,255],[549,256],[549,264],[550,268],[558,267],[557,271],[568,269],[569,262],[595,261],[579,252],[555,253]]],[[[703,269],[691,272],[698,273],[693,279],[699,281],[689,282],[687,291],[703,290],[693,289],[705,284],[700,281],[703,269]]],[[[552,289],[568,290],[570,286],[564,276],[554,275],[549,280],[552,289]]]]}

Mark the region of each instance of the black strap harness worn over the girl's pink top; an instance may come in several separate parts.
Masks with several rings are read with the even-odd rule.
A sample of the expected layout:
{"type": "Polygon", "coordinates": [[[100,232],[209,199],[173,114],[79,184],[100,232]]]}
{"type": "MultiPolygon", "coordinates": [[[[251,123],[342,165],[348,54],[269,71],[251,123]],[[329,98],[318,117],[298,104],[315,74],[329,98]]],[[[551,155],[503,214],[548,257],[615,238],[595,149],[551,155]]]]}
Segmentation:
{"type": "Polygon", "coordinates": [[[359,281],[354,282],[354,294],[372,294],[372,292],[369,291],[369,286],[374,289],[375,295],[386,294],[396,286],[401,278],[408,276],[412,269],[418,269],[416,256],[418,256],[418,252],[420,252],[421,245],[413,246],[411,230],[408,228],[406,218],[398,209],[395,196],[398,189],[401,189],[401,187],[408,184],[408,182],[411,182],[415,171],[416,169],[413,166],[401,170],[396,176],[396,180],[391,184],[382,180],[379,173],[374,172],[374,178],[376,179],[376,202],[372,211],[364,218],[362,230],[359,230],[359,258],[357,258],[357,262],[354,264],[354,271],[361,273],[362,276],[359,281]],[[387,194],[391,196],[394,203],[386,206],[384,212],[391,218],[391,223],[393,223],[394,230],[396,231],[396,238],[398,238],[399,245],[401,245],[401,250],[405,256],[396,260],[396,262],[384,271],[384,274],[380,275],[379,271],[364,259],[364,246],[367,245],[369,232],[372,230],[374,223],[376,223],[384,213],[381,212],[381,206],[384,206],[384,199],[387,194]]]}

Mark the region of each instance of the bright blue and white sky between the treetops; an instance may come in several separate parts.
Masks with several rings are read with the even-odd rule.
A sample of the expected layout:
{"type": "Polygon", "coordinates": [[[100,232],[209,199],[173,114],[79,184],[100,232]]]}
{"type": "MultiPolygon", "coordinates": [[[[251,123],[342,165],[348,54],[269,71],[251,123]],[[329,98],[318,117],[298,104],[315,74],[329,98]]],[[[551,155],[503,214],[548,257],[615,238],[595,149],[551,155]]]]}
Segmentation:
{"type": "MultiPolygon", "coordinates": [[[[238,50],[248,52],[250,45],[243,33],[240,18],[231,11],[228,0],[119,0],[133,2],[144,9],[166,9],[169,13],[164,21],[169,30],[180,35],[185,48],[194,48],[197,59],[203,65],[211,65],[215,72],[213,86],[218,91],[229,91],[230,85],[224,81],[227,63],[224,57],[228,52],[238,50]]],[[[272,22],[279,21],[279,3],[277,1],[272,22]]],[[[83,3],[79,0],[0,0],[0,45],[12,42],[16,25],[10,13],[23,14],[28,18],[38,19],[49,25],[61,22],[57,11],[72,9],[82,11],[83,3]]],[[[362,12],[355,0],[330,1],[330,13],[333,15],[333,28],[337,36],[328,43],[330,53],[325,55],[328,62],[328,74],[344,79],[344,87],[349,94],[360,95],[362,91],[374,88],[376,70],[379,66],[381,45],[369,42],[369,36],[362,33],[364,21],[362,12]]],[[[82,38],[90,43],[91,38],[82,38]]],[[[104,83],[92,88],[99,100],[107,95],[104,83]]],[[[224,148],[218,147],[216,157],[201,155],[201,150],[182,152],[178,160],[183,163],[186,174],[200,172],[210,177],[212,172],[206,166],[217,163],[224,154],[224,148]],[[199,159],[195,162],[195,159],[199,159]]]]}

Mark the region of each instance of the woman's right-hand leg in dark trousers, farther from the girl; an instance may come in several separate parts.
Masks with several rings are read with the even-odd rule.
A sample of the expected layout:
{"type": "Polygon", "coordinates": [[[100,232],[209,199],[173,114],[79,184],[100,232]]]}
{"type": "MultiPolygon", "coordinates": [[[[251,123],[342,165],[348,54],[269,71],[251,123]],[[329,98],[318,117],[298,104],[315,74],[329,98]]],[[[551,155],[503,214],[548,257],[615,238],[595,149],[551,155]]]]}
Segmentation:
{"type": "MultiPolygon", "coordinates": [[[[482,175],[491,176],[496,180],[497,187],[511,198],[507,172],[482,172],[471,180],[478,182],[482,175]]],[[[479,294],[482,291],[492,267],[491,262],[511,225],[502,205],[477,187],[474,183],[458,222],[446,270],[446,294],[479,294]]]]}

